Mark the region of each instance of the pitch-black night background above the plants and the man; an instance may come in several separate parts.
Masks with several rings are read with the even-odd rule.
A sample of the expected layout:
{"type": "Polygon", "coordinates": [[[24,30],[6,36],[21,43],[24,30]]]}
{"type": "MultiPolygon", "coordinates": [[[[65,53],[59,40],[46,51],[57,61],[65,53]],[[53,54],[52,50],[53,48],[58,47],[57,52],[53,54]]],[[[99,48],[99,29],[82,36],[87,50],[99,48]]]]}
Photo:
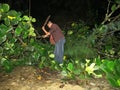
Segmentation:
{"type": "Polygon", "coordinates": [[[0,0],[8,3],[11,9],[27,12],[36,18],[36,25],[43,23],[48,15],[51,20],[64,25],[83,20],[89,25],[103,21],[107,0],[0,0]]]}

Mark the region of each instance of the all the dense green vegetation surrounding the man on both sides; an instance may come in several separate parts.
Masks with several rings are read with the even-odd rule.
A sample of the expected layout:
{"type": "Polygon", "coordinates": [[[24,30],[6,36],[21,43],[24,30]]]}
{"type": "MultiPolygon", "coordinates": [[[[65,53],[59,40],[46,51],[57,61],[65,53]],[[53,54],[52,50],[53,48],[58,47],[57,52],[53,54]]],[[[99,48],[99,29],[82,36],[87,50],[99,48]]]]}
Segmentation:
{"type": "MultiPolygon", "coordinates": [[[[109,6],[109,5],[108,5],[109,6]]],[[[16,66],[32,65],[61,71],[66,79],[101,78],[120,87],[120,2],[107,8],[104,21],[94,28],[79,21],[64,30],[63,64],[54,61],[53,47],[35,32],[36,19],[0,4],[0,68],[11,72],[16,66]]]]}

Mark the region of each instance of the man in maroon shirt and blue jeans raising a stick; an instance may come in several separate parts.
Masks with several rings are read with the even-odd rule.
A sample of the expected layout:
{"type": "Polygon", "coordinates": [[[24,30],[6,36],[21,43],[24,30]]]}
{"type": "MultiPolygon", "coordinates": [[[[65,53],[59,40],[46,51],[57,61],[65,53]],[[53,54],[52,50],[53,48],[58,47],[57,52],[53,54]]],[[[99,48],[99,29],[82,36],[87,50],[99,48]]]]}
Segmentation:
{"type": "Polygon", "coordinates": [[[55,42],[55,50],[54,50],[55,60],[58,63],[62,63],[63,55],[64,55],[65,37],[62,33],[62,30],[57,24],[54,24],[51,21],[49,21],[47,26],[50,29],[49,32],[47,32],[44,26],[42,27],[43,31],[45,32],[43,38],[46,38],[48,36],[53,37],[53,40],[55,42]]]}

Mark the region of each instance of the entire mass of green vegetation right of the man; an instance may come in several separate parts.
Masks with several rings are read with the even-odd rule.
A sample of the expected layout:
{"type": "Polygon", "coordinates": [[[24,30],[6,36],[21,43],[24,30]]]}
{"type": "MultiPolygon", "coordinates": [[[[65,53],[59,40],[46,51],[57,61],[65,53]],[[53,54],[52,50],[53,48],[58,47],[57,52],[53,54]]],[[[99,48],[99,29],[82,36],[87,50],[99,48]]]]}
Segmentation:
{"type": "Polygon", "coordinates": [[[106,73],[106,78],[110,84],[119,87],[119,73],[116,70],[116,68],[119,68],[118,62],[114,65],[114,73],[109,70],[112,68],[113,62],[118,61],[120,55],[119,14],[111,18],[112,14],[118,10],[116,7],[119,7],[119,4],[115,5],[111,7],[112,13],[107,13],[109,19],[106,18],[101,25],[95,25],[92,30],[83,22],[79,22],[73,23],[72,28],[67,31],[65,55],[68,63],[66,66],[63,65],[63,74],[65,76],[74,78],[77,75],[79,77],[82,75],[102,77],[102,74],[106,73]],[[110,23],[108,22],[109,20],[110,23]],[[105,62],[102,62],[100,58],[95,58],[96,54],[100,55],[100,58],[106,58],[105,62]],[[113,59],[112,62],[110,61],[111,59],[113,59]],[[76,64],[75,62],[78,63],[76,64]],[[81,63],[83,64],[81,65],[81,63]],[[77,67],[78,65],[79,67],[77,67]],[[75,73],[76,70],[77,74],[75,73]],[[117,73],[118,75],[115,75],[117,73]]]}

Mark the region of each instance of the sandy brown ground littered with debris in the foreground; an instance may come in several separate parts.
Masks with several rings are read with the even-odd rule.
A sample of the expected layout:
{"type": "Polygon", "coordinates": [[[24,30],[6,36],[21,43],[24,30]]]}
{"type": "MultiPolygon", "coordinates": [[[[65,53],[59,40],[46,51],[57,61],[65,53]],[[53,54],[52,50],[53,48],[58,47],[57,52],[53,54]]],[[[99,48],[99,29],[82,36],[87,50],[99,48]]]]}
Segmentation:
{"type": "Polygon", "coordinates": [[[0,72],[0,90],[119,90],[104,78],[69,81],[62,78],[48,68],[19,66],[11,73],[0,72]]]}

